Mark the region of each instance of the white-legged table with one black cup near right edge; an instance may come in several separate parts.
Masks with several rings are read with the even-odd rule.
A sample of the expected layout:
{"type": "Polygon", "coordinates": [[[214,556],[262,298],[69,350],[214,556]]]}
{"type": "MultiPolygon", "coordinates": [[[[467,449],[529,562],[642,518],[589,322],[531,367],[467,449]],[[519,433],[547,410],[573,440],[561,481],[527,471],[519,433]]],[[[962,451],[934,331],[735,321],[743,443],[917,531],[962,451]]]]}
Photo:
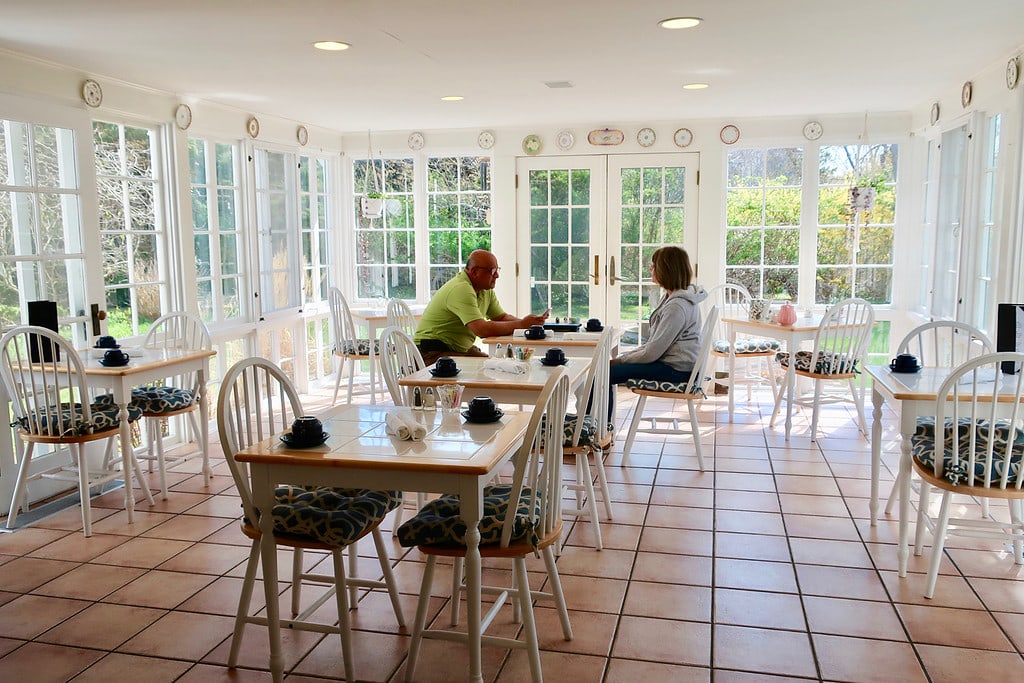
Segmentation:
{"type": "MultiPolygon", "coordinates": [[[[882,474],[882,409],[888,402],[899,411],[899,575],[906,575],[910,555],[910,475],[912,470],[910,438],[918,418],[935,415],[935,401],[939,388],[954,369],[922,368],[916,373],[897,373],[889,366],[866,366],[864,372],[871,378],[871,498],[869,512],[871,526],[878,523],[879,485],[882,474]]],[[[1010,391],[1012,392],[1011,387],[1010,391]]]]}

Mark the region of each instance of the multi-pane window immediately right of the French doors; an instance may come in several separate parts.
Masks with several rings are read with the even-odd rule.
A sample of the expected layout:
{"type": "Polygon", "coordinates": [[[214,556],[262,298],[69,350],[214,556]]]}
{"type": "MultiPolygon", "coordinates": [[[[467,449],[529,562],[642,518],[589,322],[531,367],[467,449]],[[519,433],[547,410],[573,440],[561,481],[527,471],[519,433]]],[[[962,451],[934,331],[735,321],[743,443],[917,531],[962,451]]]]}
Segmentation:
{"type": "Polygon", "coordinates": [[[726,280],[755,297],[796,300],[804,151],[729,153],[726,185],[726,280]]]}

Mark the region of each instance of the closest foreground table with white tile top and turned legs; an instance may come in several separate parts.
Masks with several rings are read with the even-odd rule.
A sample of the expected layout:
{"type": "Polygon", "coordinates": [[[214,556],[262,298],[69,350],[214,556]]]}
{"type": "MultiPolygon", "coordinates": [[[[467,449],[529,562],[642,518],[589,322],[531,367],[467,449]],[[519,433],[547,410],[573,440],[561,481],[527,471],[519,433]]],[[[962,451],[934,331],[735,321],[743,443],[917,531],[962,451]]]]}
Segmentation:
{"type": "MultiPolygon", "coordinates": [[[[273,507],[279,482],[316,486],[422,490],[454,494],[466,523],[466,590],[469,633],[480,633],[480,532],[483,487],[507,463],[522,441],[530,414],[507,411],[488,424],[464,422],[458,413],[412,411],[395,405],[337,405],[318,416],[330,435],[322,444],[289,446],[275,434],[240,451],[236,458],[249,466],[257,508],[273,507]],[[422,440],[388,435],[385,418],[400,413],[423,424],[422,440]],[[475,627],[475,628],[474,628],[475,627]]],[[[278,552],[271,515],[260,518],[263,586],[269,624],[278,624],[278,552]]],[[[269,628],[270,670],[283,676],[281,631],[269,628]]],[[[468,680],[481,682],[479,636],[469,641],[468,680]]]]}

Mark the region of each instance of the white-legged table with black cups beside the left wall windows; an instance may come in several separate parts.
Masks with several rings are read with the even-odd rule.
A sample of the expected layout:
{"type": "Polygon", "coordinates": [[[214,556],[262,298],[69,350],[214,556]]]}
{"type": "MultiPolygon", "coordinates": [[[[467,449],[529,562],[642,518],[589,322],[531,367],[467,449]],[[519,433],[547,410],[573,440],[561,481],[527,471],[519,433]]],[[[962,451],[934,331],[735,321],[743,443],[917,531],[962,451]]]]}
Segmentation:
{"type": "MultiPolygon", "coordinates": [[[[210,467],[209,408],[206,399],[207,366],[210,358],[216,355],[213,349],[182,349],[182,348],[141,348],[124,347],[128,354],[128,362],[124,366],[104,366],[100,364],[100,350],[95,348],[79,351],[85,368],[89,388],[97,393],[109,391],[118,405],[118,418],[121,422],[121,458],[124,468],[125,510],[128,522],[135,520],[135,498],[132,494],[132,473],[135,454],[131,445],[131,430],[128,423],[128,403],[131,401],[133,387],[152,384],[167,377],[181,373],[195,372],[199,377],[200,395],[196,397],[200,410],[200,430],[197,435],[200,450],[203,454],[203,483],[210,485],[213,470],[210,467]]],[[[146,498],[153,503],[152,495],[146,492],[146,498]]]]}

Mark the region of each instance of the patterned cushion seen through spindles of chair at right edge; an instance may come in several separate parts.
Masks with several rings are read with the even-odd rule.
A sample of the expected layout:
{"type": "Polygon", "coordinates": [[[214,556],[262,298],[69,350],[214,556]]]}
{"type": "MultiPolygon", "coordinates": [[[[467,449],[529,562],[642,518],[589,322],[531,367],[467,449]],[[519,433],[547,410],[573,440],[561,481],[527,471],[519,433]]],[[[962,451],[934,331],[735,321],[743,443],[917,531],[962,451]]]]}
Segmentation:
{"type": "MultiPolygon", "coordinates": [[[[971,450],[971,432],[976,434],[975,454],[977,460],[974,463],[974,476],[984,480],[985,472],[991,473],[993,481],[1002,476],[1006,460],[1001,454],[1006,452],[1007,439],[1010,438],[1010,423],[1006,420],[996,420],[994,429],[988,420],[978,420],[972,422],[971,418],[964,417],[956,420],[956,450],[958,458],[954,458],[952,450],[949,447],[949,438],[953,430],[952,418],[945,419],[945,426],[942,435],[942,471],[943,475],[954,485],[966,483],[967,481],[967,459],[971,450]],[[988,442],[994,432],[995,437],[995,458],[989,465],[986,458],[988,442]],[[956,462],[959,461],[959,462],[956,462]]],[[[935,418],[918,418],[913,436],[910,437],[910,454],[919,464],[927,469],[935,467],[935,418]]],[[[1015,455],[1010,458],[1009,481],[1011,484],[1017,483],[1021,477],[1022,453],[1024,453],[1024,430],[1013,429],[1013,450],[1015,455]]]]}

